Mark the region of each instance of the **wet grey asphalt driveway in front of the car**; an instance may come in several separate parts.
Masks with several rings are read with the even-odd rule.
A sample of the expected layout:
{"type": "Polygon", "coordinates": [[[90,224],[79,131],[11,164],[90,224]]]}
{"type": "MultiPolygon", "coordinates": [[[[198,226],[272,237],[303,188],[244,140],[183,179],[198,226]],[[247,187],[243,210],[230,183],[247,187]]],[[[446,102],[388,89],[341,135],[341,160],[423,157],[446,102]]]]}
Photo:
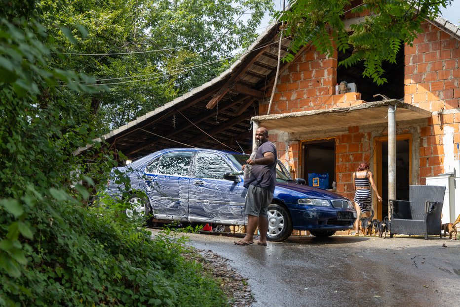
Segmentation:
{"type": "Polygon", "coordinates": [[[236,246],[238,237],[187,235],[248,278],[252,307],[460,306],[460,240],[291,236],[236,246]]]}

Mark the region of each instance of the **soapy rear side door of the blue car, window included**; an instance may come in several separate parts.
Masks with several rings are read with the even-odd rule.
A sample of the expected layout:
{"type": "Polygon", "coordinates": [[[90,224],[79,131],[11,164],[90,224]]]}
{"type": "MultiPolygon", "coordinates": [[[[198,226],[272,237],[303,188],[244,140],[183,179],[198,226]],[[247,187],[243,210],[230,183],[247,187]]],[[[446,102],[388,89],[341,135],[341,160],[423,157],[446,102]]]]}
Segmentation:
{"type": "Polygon", "coordinates": [[[156,219],[188,220],[189,171],[193,151],[173,151],[145,170],[146,189],[156,219]]]}

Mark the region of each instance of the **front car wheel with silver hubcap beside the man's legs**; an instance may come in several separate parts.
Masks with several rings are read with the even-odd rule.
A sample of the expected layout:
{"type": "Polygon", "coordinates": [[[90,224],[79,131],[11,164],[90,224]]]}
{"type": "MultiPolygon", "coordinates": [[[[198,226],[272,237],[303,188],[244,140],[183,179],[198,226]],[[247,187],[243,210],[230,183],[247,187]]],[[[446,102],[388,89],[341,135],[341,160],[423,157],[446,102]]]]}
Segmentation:
{"type": "Polygon", "coordinates": [[[268,206],[268,233],[269,241],[284,241],[292,233],[292,219],[287,209],[278,204],[268,206]]]}

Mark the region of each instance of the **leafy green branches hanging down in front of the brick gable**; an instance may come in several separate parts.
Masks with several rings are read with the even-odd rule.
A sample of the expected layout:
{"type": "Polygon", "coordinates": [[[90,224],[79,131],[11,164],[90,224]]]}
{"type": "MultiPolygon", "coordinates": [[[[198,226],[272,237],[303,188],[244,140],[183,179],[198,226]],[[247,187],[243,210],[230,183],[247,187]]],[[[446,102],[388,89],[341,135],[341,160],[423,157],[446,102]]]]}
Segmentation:
{"type": "Polygon", "coordinates": [[[451,0],[291,0],[290,8],[275,16],[284,22],[285,36],[292,37],[292,60],[300,48],[311,42],[316,49],[332,55],[337,48],[353,52],[339,65],[349,67],[364,61],[363,75],[378,85],[387,82],[382,77],[383,61],[395,63],[396,54],[403,44],[412,45],[421,24],[440,14],[440,7],[451,0]],[[368,12],[365,20],[351,25],[352,33],[345,29],[345,14],[368,12]]]}

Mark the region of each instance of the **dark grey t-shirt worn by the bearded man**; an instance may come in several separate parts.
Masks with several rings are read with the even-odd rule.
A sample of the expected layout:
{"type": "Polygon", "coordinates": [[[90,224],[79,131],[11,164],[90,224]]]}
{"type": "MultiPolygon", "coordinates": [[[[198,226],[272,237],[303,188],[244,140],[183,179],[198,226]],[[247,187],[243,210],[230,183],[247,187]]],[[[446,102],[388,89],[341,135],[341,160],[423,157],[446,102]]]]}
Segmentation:
{"type": "MultiPolygon", "coordinates": [[[[247,165],[247,167],[250,168],[250,176],[248,179],[246,179],[246,176],[244,178],[244,187],[249,187],[249,185],[254,185],[254,186],[259,186],[264,189],[267,189],[268,191],[272,192],[275,190],[275,185],[276,185],[276,161],[277,161],[277,155],[276,155],[276,148],[275,145],[273,145],[272,142],[267,141],[263,143],[262,145],[259,146],[259,148],[256,151],[256,157],[255,159],[260,159],[264,158],[264,154],[266,152],[271,152],[273,153],[275,157],[275,161],[272,164],[269,165],[247,165]]],[[[245,168],[245,171],[246,171],[245,168]]]]}

